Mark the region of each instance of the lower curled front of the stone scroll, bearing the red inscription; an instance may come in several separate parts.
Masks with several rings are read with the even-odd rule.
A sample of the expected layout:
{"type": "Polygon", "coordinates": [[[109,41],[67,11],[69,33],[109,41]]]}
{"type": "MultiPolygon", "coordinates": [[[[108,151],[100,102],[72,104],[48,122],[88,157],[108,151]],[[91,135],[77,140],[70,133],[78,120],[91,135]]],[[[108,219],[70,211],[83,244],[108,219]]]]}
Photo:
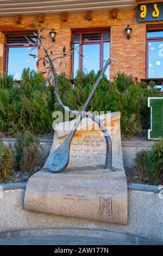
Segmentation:
{"type": "Polygon", "coordinates": [[[127,224],[124,170],[102,166],[41,170],[29,179],[24,208],[54,215],[127,224]]]}

